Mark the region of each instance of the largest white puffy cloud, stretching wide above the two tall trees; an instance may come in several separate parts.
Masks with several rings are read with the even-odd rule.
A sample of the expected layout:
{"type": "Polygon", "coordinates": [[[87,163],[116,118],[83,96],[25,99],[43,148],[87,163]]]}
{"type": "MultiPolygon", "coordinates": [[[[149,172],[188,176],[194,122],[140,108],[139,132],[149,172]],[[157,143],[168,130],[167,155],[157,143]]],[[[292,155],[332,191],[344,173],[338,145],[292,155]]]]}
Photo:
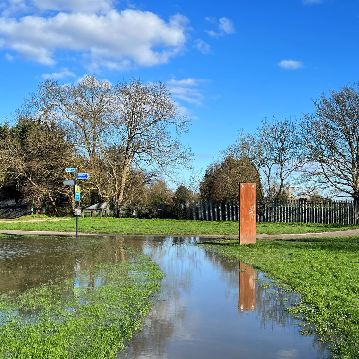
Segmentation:
{"type": "Polygon", "coordinates": [[[0,18],[5,48],[45,65],[56,63],[56,51],[83,55],[89,70],[123,70],[164,64],[186,43],[188,19],[180,14],[165,22],[150,11],[110,10],[104,15],[58,13],[52,17],[0,18]]]}

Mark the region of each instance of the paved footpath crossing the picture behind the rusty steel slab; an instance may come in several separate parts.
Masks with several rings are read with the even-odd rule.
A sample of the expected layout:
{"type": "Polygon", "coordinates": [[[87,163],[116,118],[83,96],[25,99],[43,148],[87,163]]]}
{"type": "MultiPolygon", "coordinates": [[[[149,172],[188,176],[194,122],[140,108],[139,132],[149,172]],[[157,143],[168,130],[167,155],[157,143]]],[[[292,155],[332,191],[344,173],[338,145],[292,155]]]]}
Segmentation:
{"type": "MultiPolygon", "coordinates": [[[[40,230],[8,230],[0,229],[0,233],[3,234],[22,234],[24,236],[75,236],[75,232],[55,232],[55,231],[40,231],[40,230]]],[[[79,232],[79,236],[127,236],[126,234],[115,234],[115,233],[84,233],[79,232]]],[[[206,237],[206,238],[226,238],[226,239],[237,239],[238,236],[227,236],[227,235],[217,235],[217,236],[199,236],[196,234],[193,235],[184,235],[184,234],[131,234],[131,236],[171,236],[171,237],[206,237]]],[[[334,232],[318,232],[318,233],[295,233],[295,234],[257,234],[258,239],[288,239],[288,238],[319,238],[319,237],[349,237],[349,236],[359,236],[359,229],[350,229],[350,230],[337,230],[334,232]]]]}

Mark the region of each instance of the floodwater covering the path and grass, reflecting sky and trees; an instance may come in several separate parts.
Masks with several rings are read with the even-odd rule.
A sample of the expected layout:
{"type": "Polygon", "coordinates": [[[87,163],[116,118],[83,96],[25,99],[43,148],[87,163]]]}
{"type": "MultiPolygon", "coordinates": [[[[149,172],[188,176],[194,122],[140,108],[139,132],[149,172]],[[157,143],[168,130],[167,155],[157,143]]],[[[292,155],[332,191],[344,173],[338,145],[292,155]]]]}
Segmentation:
{"type": "MultiPolygon", "coordinates": [[[[162,292],[143,322],[143,331],[135,333],[118,358],[330,357],[327,343],[301,335],[300,321],[285,311],[299,302],[298,295],[281,292],[243,263],[192,245],[205,238],[80,237],[77,243],[57,238],[1,238],[0,293],[56,283],[64,276],[76,278],[78,271],[101,261],[121,261],[121,244],[150,255],[164,271],[162,292]],[[271,288],[263,288],[262,283],[271,288]]],[[[101,280],[89,273],[88,283],[77,285],[101,285],[101,280]]]]}

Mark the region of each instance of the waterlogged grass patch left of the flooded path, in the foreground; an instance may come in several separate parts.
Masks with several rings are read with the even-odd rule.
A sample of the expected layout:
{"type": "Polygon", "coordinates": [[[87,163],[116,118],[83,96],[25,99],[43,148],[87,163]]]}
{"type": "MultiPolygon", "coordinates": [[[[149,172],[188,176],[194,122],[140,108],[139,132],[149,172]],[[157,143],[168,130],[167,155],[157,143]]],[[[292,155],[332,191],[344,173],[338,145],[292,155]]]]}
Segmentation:
{"type": "MultiPolygon", "coordinates": [[[[79,272],[79,283],[88,281],[91,272],[93,278],[101,276],[101,286],[55,278],[51,284],[1,295],[0,357],[113,359],[125,349],[163,278],[148,256],[125,250],[130,258],[123,262],[101,262],[79,272]]],[[[63,274],[73,271],[60,267],[63,274]]]]}

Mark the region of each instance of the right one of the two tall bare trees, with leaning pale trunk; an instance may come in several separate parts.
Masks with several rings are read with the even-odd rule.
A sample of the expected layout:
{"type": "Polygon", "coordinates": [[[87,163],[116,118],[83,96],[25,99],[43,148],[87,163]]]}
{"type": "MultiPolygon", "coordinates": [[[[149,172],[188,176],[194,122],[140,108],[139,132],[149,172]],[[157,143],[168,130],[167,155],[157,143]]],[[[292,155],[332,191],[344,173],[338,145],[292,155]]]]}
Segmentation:
{"type": "Polygon", "coordinates": [[[132,78],[118,83],[114,92],[116,112],[108,137],[122,155],[116,194],[121,202],[131,166],[171,176],[178,168],[190,169],[193,154],[171,134],[172,129],[177,135],[186,132],[190,121],[180,115],[165,84],[132,78]]]}

